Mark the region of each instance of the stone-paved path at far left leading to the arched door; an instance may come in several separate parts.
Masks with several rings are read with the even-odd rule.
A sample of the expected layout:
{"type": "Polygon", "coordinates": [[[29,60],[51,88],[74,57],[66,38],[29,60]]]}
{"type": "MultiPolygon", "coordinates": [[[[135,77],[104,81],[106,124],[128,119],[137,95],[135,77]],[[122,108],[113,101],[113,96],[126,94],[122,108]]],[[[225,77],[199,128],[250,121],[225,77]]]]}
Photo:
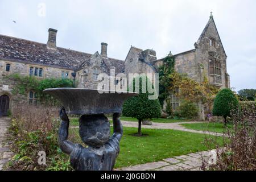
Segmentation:
{"type": "Polygon", "coordinates": [[[0,117],[0,171],[3,170],[3,166],[13,157],[13,152],[11,152],[9,146],[5,144],[9,123],[10,118],[0,117]]]}

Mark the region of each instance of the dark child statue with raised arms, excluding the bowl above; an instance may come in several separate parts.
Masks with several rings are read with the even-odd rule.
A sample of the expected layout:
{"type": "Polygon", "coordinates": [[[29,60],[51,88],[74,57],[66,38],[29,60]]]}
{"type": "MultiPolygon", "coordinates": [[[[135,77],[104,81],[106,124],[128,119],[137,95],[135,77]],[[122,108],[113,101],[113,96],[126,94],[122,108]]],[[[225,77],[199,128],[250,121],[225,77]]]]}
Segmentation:
{"type": "Polygon", "coordinates": [[[104,114],[82,115],[79,134],[88,147],[68,139],[69,119],[64,107],[60,110],[61,125],[58,142],[61,150],[70,155],[71,166],[77,171],[111,171],[119,154],[123,129],[119,114],[113,115],[114,134],[110,137],[110,123],[104,114]]]}

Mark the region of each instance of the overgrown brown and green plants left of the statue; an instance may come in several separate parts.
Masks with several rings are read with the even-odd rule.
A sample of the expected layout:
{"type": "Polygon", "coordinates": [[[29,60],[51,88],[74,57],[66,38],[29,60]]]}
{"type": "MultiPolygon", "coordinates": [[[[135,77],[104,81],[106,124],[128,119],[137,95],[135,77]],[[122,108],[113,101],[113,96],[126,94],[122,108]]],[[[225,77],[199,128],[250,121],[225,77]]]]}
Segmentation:
{"type": "Polygon", "coordinates": [[[16,105],[9,133],[10,147],[16,154],[9,169],[69,170],[69,159],[57,143],[59,120],[55,107],[16,105]],[[46,152],[46,165],[38,164],[38,152],[46,152]]]}

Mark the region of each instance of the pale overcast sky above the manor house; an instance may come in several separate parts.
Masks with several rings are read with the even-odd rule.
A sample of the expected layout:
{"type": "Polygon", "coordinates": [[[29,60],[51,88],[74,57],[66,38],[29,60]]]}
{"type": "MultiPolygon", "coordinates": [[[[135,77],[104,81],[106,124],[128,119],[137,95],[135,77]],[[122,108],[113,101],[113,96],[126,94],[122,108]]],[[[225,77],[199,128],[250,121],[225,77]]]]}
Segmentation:
{"type": "Polygon", "coordinates": [[[254,0],[0,0],[0,34],[46,43],[51,27],[58,30],[58,47],[94,53],[106,42],[109,57],[125,60],[133,45],[154,49],[160,59],[193,49],[210,11],[228,55],[231,86],[256,89],[254,0]]]}

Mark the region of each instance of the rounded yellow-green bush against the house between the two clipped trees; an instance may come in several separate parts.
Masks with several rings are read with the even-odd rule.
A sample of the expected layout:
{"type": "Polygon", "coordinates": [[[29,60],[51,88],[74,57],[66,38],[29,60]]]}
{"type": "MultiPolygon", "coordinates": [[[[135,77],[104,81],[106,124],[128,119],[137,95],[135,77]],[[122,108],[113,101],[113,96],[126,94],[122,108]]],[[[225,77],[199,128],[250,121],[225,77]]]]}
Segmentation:
{"type": "Polygon", "coordinates": [[[199,108],[195,103],[189,101],[181,102],[178,107],[180,117],[192,119],[197,117],[197,113],[199,112],[199,108]]]}

